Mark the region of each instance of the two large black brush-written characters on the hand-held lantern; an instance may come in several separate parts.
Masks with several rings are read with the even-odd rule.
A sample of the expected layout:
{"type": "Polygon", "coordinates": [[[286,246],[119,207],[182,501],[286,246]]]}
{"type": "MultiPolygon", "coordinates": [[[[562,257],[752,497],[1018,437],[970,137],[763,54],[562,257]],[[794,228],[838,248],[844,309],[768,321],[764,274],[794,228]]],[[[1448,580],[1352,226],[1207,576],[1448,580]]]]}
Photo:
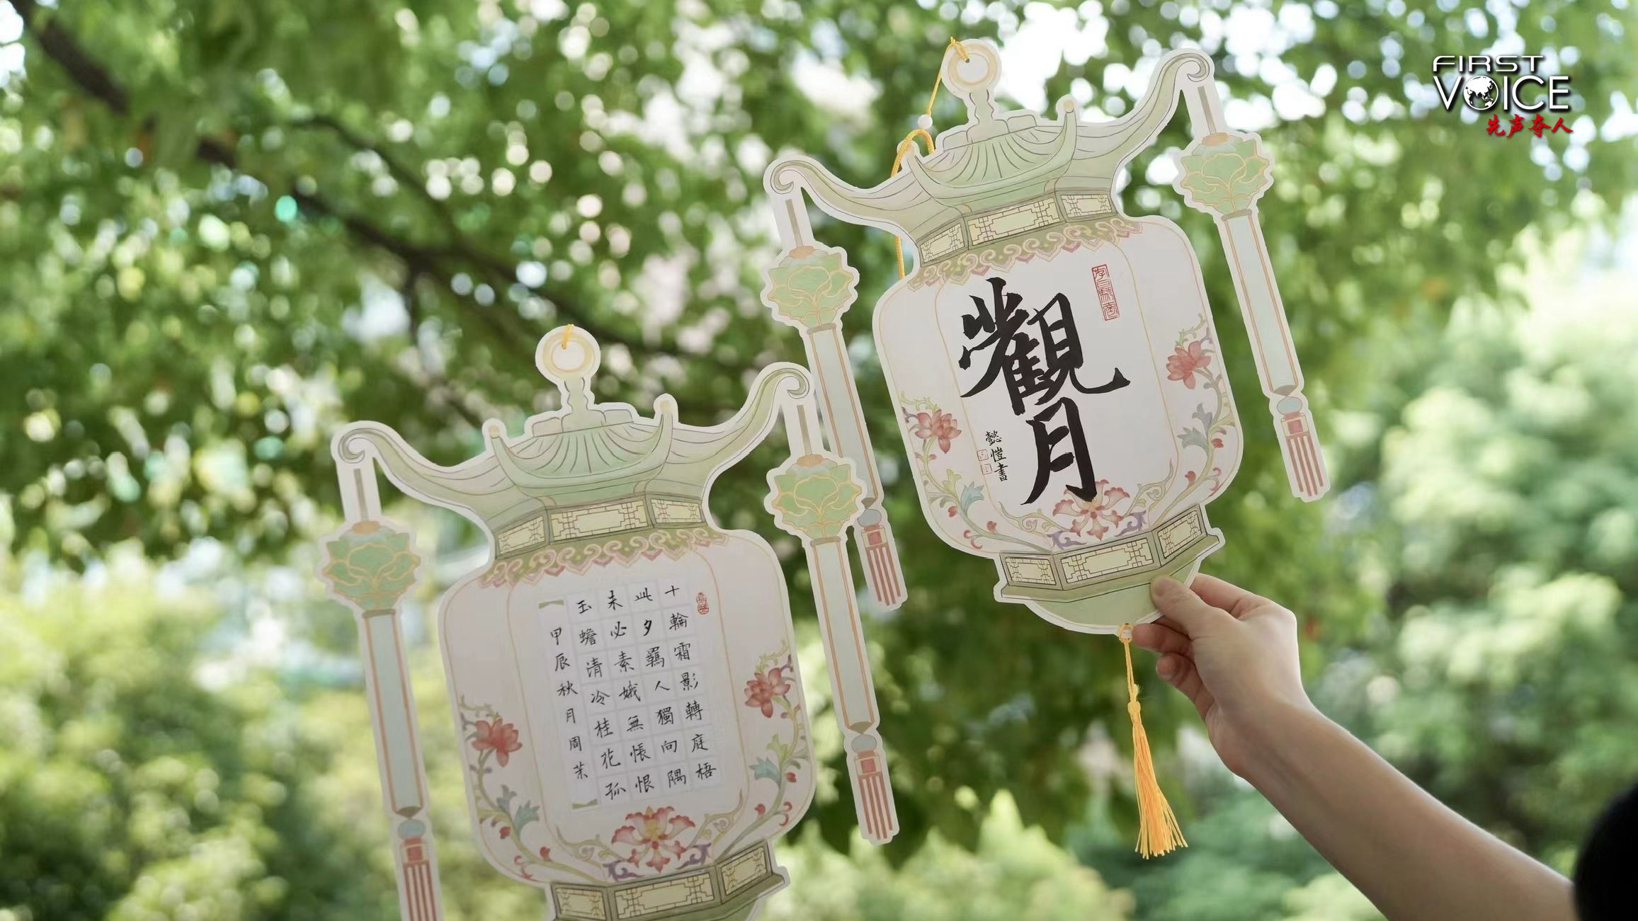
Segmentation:
{"type": "Polygon", "coordinates": [[[989,362],[983,375],[962,397],[981,393],[996,380],[1007,390],[1016,416],[1034,413],[1029,426],[1035,434],[1035,480],[1025,503],[1040,498],[1052,474],[1075,469],[1075,482],[1068,490],[1083,500],[1097,495],[1097,475],[1086,446],[1086,429],[1081,410],[1073,395],[1061,395],[1071,383],[1081,393],[1111,393],[1130,382],[1114,369],[1107,383],[1088,387],[1079,379],[1081,338],[1075,329],[1075,313],[1070,298],[1053,295],[1040,310],[1030,313],[1020,306],[1020,295],[1006,290],[1006,279],[989,279],[991,300],[971,295],[975,311],[962,316],[962,334],[968,344],[962,349],[960,367],[970,369],[973,354],[989,349],[989,362]],[[1030,326],[1040,336],[1030,334],[1030,326]],[[976,341],[975,341],[976,339],[976,341]],[[1060,447],[1063,446],[1063,447],[1060,447]]]}

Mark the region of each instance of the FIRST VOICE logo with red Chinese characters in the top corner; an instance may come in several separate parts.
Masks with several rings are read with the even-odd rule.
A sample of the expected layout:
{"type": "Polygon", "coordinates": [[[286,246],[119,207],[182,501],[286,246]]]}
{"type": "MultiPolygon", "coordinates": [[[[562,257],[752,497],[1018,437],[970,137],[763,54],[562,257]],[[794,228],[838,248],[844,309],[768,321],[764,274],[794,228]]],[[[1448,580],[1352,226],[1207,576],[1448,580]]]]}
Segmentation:
{"type": "Polygon", "coordinates": [[[1456,100],[1477,111],[1492,111],[1486,133],[1512,138],[1530,131],[1571,134],[1564,118],[1548,115],[1569,111],[1569,77],[1543,75],[1541,54],[1440,54],[1433,57],[1433,85],[1445,111],[1456,111],[1456,100]],[[1528,123],[1525,116],[1533,116],[1528,123]]]}

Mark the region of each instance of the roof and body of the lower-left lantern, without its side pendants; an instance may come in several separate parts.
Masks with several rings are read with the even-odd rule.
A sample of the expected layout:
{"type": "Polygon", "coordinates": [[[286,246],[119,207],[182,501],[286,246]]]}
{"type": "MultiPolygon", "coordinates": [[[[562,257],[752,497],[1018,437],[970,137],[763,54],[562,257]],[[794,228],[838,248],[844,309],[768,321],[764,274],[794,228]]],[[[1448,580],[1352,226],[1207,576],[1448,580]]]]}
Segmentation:
{"type": "MultiPolygon", "coordinates": [[[[373,424],[337,444],[491,538],[437,613],[490,864],[547,888],[557,918],[747,918],[783,885],[768,844],[812,796],[811,728],[780,560],[717,528],[706,497],[806,377],[776,365],[737,416],[695,428],[667,397],[655,418],[595,403],[595,344],[563,333],[590,354],[578,364],[554,346],[541,362],[565,408],[514,439],[491,423],[465,464],[436,467],[373,424]]],[[[341,549],[334,565],[390,547],[341,549]]]]}

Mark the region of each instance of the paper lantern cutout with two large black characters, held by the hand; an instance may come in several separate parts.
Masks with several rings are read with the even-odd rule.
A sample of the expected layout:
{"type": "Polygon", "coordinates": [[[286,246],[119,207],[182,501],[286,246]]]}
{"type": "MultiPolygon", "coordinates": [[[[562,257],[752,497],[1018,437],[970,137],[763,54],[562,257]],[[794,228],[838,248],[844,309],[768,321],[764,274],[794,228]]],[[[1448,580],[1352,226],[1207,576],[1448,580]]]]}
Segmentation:
{"type": "MultiPolygon", "coordinates": [[[[945,57],[968,121],[935,152],[857,188],[808,157],[768,167],[786,252],[763,298],[794,310],[811,292],[850,302],[844,252],[817,244],[803,193],[850,223],[907,238],[914,270],[876,305],[876,349],[909,472],[934,531],[991,557],[996,597],[1079,631],[1153,616],[1148,583],[1188,580],[1222,546],[1206,505],[1235,475],[1240,420],[1188,236],[1120,210],[1115,179],[1188,98],[1199,141],[1181,157],[1186,202],[1215,215],[1256,351],[1292,490],[1325,492],[1302,377],[1263,251],[1255,203],[1269,162],[1255,134],[1222,126],[1210,59],[1155,67],[1124,118],[999,111],[999,56],[983,41],[945,57]],[[793,293],[781,277],[803,277],[793,293]]],[[[850,375],[847,365],[826,374],[850,375]]],[[[821,380],[842,392],[842,385],[821,380]]],[[[847,390],[852,383],[847,382],[847,390]]],[[[827,418],[858,415],[853,403],[827,418]]]]}

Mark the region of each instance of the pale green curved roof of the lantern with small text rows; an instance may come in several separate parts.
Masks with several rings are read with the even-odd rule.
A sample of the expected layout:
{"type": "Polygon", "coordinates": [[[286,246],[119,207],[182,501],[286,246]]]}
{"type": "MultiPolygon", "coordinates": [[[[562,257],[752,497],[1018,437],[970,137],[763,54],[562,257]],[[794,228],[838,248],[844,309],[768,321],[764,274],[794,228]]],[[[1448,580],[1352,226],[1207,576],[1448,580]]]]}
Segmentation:
{"type": "Polygon", "coordinates": [[[495,534],[498,556],[509,557],[580,536],[542,515],[554,508],[629,497],[637,500],[622,510],[631,526],[696,524],[698,495],[713,470],[767,433],[776,392],[794,377],[762,379],[735,416],[706,428],[680,423],[675,400],[663,393],[652,418],[624,403],[598,403],[591,383],[600,364],[598,346],[583,329],[568,326],[542,338],[536,367],[557,385],[563,410],[531,416],[516,439],[490,420],[483,436],[493,451],[454,467],[432,464],[375,423],[351,426],[337,451],[362,457],[359,442],[373,446],[400,487],[480,519],[495,534]]]}

